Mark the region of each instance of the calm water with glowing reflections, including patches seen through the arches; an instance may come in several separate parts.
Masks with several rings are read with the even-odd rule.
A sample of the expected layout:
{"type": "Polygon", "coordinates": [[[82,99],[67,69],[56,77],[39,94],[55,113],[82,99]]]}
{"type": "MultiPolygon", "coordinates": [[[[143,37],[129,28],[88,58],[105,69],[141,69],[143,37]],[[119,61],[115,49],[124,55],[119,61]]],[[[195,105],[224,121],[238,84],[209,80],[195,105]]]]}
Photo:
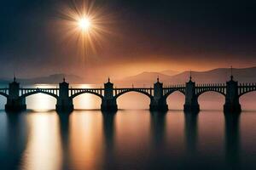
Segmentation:
{"type": "MultiPolygon", "coordinates": [[[[253,110],[251,97],[241,99],[246,110],[253,110]]],[[[26,99],[28,111],[0,112],[0,169],[255,169],[256,111],[224,116],[223,102],[207,94],[198,115],[160,113],[145,110],[149,99],[131,93],[114,115],[61,115],[52,111],[54,98],[36,94],[26,99]]],[[[172,95],[168,104],[181,109],[183,96],[172,95]]],[[[84,94],[74,105],[96,109],[100,99],[84,94]]]]}

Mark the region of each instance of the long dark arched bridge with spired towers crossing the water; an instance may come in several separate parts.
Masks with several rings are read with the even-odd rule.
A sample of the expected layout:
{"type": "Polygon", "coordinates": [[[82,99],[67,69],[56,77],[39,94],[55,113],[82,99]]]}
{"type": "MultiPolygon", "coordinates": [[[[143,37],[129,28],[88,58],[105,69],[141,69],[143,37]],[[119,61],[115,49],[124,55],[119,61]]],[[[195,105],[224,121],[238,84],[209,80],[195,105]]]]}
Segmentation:
{"type": "Polygon", "coordinates": [[[185,96],[183,110],[188,112],[200,111],[198,98],[206,92],[217,92],[224,95],[224,113],[240,113],[241,105],[239,98],[247,93],[256,91],[256,83],[238,83],[231,75],[230,81],[220,84],[195,84],[192,77],[189,82],[181,85],[163,86],[157,78],[154,88],[113,88],[113,83],[104,83],[104,88],[69,88],[69,83],[63,79],[58,88],[20,88],[20,83],[9,83],[9,88],[0,88],[0,95],[7,98],[6,111],[26,110],[26,97],[32,94],[48,94],[56,99],[56,111],[73,111],[73,99],[80,94],[94,94],[102,99],[102,111],[117,111],[117,99],[119,96],[136,92],[148,96],[150,99],[150,111],[167,111],[166,99],[174,92],[180,92],[185,96]]]}

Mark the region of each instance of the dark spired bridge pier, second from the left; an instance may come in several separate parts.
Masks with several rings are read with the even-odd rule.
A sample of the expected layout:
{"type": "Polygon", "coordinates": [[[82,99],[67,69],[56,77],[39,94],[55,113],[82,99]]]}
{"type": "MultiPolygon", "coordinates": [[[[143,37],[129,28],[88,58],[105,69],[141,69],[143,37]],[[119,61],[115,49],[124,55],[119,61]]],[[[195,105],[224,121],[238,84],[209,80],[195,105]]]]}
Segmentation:
{"type": "Polygon", "coordinates": [[[68,86],[69,84],[65,82],[65,79],[59,84],[59,97],[57,98],[57,104],[55,105],[57,112],[73,111],[73,99],[68,96],[68,86]]]}

